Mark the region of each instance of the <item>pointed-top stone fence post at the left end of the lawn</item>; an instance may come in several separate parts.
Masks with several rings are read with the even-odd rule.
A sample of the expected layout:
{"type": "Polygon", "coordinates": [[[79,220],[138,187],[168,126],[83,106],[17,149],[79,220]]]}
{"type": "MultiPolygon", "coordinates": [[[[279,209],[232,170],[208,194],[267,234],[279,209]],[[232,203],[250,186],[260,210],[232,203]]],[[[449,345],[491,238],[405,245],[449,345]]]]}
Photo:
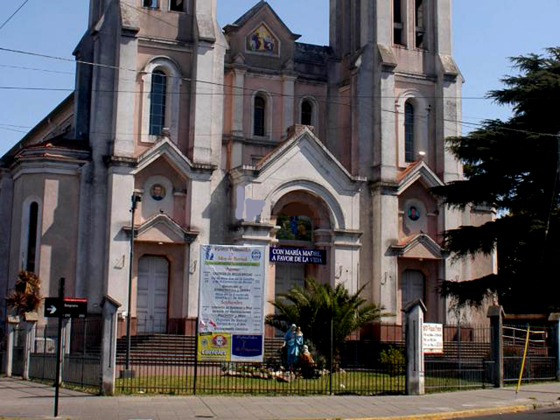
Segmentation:
{"type": "Polygon", "coordinates": [[[121,304],[112,297],[105,295],[101,302],[103,308],[102,335],[102,384],[99,390],[102,395],[115,393],[115,365],[117,358],[117,309],[121,304]]]}

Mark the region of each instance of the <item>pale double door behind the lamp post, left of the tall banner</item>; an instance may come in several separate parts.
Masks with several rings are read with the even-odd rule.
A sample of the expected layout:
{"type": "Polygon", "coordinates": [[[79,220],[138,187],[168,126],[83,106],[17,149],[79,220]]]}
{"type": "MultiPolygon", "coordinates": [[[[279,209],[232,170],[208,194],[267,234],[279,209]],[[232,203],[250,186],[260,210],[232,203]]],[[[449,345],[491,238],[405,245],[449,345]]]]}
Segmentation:
{"type": "Polygon", "coordinates": [[[138,261],[137,329],[139,334],[167,332],[169,262],[144,256],[138,261]]]}

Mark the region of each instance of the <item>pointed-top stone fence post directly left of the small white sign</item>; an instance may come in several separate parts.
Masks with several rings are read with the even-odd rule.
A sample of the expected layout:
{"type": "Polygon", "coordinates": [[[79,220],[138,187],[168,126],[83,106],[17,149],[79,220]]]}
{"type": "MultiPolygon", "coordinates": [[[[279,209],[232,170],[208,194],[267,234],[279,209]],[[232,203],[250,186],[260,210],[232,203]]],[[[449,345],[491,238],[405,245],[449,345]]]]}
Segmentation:
{"type": "Polygon", "coordinates": [[[422,346],[422,325],[426,305],[421,299],[410,303],[405,309],[406,314],[406,346],[407,370],[406,393],[407,395],[424,394],[424,351],[422,346]]]}

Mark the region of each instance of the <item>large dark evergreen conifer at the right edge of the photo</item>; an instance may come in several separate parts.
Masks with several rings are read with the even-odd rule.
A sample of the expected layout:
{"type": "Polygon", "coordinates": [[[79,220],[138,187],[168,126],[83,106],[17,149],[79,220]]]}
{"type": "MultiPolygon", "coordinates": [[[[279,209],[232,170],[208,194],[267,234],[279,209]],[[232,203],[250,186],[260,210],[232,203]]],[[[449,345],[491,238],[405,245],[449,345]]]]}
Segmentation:
{"type": "Polygon", "coordinates": [[[511,106],[512,117],[486,120],[465,137],[447,139],[465,180],[432,190],[449,207],[496,211],[494,221],[444,232],[443,244],[459,258],[497,247],[498,274],[445,281],[441,292],[460,305],[496,293],[505,311],[542,312],[560,305],[556,293],[547,293],[556,290],[560,261],[560,47],[510,60],[517,74],[487,96],[511,106]]]}

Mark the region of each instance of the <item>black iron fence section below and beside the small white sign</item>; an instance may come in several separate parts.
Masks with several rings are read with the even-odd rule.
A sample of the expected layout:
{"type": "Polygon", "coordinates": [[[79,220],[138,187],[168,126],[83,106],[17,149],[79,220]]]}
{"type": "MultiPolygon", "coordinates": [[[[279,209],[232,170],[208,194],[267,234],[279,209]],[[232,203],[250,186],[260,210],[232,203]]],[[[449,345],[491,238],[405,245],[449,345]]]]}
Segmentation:
{"type": "Polygon", "coordinates": [[[491,328],[444,325],[443,353],[426,354],[426,392],[492,386],[491,328]]]}

